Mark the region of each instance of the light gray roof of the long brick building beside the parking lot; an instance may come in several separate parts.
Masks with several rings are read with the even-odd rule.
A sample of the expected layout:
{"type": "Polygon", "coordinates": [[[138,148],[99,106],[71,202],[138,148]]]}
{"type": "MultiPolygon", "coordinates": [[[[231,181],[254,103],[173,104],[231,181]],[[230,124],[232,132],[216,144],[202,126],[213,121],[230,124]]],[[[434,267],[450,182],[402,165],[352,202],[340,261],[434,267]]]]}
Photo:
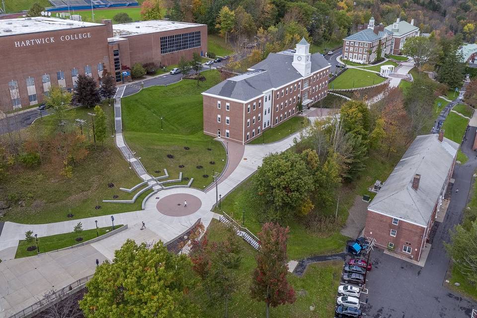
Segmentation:
{"type": "Polygon", "coordinates": [[[368,209],[427,225],[459,149],[459,144],[437,138],[416,137],[368,209]],[[417,191],[412,189],[415,174],[421,175],[417,191]]]}

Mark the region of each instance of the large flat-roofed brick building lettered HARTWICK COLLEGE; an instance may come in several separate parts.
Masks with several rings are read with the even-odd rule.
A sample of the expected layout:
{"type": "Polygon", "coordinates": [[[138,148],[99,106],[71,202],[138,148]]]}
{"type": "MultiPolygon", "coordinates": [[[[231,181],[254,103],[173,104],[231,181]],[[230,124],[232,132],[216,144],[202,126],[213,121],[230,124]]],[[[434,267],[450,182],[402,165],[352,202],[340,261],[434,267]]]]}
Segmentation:
{"type": "Polygon", "coordinates": [[[205,55],[207,26],[173,21],[112,24],[51,17],[0,20],[0,110],[42,102],[52,85],[74,90],[78,75],[98,81],[103,66],[121,82],[135,63],[205,55]]]}

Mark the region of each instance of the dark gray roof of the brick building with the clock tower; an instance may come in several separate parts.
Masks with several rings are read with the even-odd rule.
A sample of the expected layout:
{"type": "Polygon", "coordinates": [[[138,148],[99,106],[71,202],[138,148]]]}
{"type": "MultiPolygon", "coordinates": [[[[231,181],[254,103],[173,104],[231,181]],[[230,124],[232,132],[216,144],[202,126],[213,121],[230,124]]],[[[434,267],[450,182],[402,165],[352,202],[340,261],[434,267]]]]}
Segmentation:
{"type": "MultiPolygon", "coordinates": [[[[330,65],[319,53],[312,54],[311,61],[312,73],[330,65]]],[[[293,54],[270,53],[265,60],[250,68],[252,71],[247,72],[249,76],[239,75],[226,79],[207,89],[204,93],[244,101],[252,99],[270,88],[280,87],[302,78],[301,74],[292,66],[292,62],[293,54]]]]}

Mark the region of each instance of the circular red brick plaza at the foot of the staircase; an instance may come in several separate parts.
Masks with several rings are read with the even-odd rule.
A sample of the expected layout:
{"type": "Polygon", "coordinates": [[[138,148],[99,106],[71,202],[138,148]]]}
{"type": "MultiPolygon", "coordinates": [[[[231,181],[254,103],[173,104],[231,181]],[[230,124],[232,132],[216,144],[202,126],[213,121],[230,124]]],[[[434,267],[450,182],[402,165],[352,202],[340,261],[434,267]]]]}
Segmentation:
{"type": "Polygon", "coordinates": [[[192,194],[177,193],[159,199],[156,208],[159,213],[169,217],[183,217],[197,212],[202,206],[202,201],[192,194]],[[187,201],[187,206],[184,206],[187,201]]]}

